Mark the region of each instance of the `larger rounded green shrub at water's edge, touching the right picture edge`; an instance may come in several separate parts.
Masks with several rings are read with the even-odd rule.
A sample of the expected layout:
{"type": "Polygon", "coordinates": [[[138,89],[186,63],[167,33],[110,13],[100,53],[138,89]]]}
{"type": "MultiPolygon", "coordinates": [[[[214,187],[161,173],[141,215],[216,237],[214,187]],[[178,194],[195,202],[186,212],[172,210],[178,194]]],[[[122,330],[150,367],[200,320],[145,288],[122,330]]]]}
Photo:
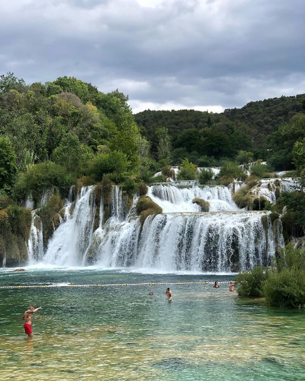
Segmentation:
{"type": "Polygon", "coordinates": [[[262,293],[270,306],[305,307],[305,271],[285,269],[263,283],[262,293]]]}

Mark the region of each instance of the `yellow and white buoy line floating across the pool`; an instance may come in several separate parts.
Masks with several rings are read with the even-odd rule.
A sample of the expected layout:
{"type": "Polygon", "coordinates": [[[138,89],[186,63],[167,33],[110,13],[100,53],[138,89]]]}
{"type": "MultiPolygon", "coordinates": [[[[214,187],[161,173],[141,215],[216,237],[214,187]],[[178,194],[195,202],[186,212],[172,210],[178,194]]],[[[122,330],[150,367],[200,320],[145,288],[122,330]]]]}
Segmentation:
{"type": "MultiPolygon", "coordinates": [[[[230,283],[230,282],[218,282],[218,283],[230,283]]],[[[88,284],[88,285],[28,285],[28,286],[0,286],[0,288],[51,288],[51,287],[111,287],[111,286],[157,286],[157,285],[212,285],[214,282],[177,282],[177,283],[111,283],[111,284],[88,284]]]]}

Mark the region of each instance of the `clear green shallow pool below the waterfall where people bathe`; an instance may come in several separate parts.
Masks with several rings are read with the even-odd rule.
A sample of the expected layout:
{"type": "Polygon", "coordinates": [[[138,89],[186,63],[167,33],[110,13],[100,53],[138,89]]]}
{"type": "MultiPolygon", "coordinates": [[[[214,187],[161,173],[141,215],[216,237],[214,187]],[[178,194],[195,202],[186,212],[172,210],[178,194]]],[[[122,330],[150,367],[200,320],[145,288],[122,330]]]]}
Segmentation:
{"type": "MultiPolygon", "coordinates": [[[[97,269],[0,271],[1,285],[228,281],[97,269]]],[[[303,380],[305,313],[228,285],[0,290],[2,380],[303,380]],[[154,295],[149,297],[149,290],[154,295]],[[26,339],[21,315],[41,306],[26,339]]]]}

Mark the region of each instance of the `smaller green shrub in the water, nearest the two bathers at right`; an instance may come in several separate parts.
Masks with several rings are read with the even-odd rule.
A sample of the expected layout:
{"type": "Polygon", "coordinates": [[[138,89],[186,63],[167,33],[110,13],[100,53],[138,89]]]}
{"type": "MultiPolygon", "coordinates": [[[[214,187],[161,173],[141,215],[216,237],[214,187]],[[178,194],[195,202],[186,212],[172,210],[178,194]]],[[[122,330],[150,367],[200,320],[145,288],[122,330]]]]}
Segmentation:
{"type": "Polygon", "coordinates": [[[235,288],[240,296],[262,296],[263,282],[269,279],[267,267],[257,266],[251,271],[243,271],[236,275],[235,288]]]}

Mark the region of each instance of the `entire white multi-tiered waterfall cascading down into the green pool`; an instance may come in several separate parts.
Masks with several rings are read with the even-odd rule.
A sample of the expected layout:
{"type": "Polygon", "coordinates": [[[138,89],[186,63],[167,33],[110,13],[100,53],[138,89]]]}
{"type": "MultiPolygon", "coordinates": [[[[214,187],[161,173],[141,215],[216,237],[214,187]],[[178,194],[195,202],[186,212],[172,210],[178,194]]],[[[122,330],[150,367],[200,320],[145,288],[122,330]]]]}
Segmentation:
{"type": "MultiPolygon", "coordinates": [[[[235,183],[234,191],[242,185],[235,183]]],[[[280,221],[271,225],[269,212],[239,210],[231,197],[233,186],[229,188],[153,184],[148,196],[163,213],[149,216],[143,226],[135,216],[137,197],[128,211],[126,196],[118,186],[112,189],[104,224],[103,195],[95,192],[95,186],[83,187],[74,202],[71,191],[63,222],[45,249],[40,219],[34,216],[28,243],[30,263],[196,273],[269,264],[276,246],[284,244],[280,221]],[[194,198],[209,202],[210,211],[201,212],[194,198]]]]}

